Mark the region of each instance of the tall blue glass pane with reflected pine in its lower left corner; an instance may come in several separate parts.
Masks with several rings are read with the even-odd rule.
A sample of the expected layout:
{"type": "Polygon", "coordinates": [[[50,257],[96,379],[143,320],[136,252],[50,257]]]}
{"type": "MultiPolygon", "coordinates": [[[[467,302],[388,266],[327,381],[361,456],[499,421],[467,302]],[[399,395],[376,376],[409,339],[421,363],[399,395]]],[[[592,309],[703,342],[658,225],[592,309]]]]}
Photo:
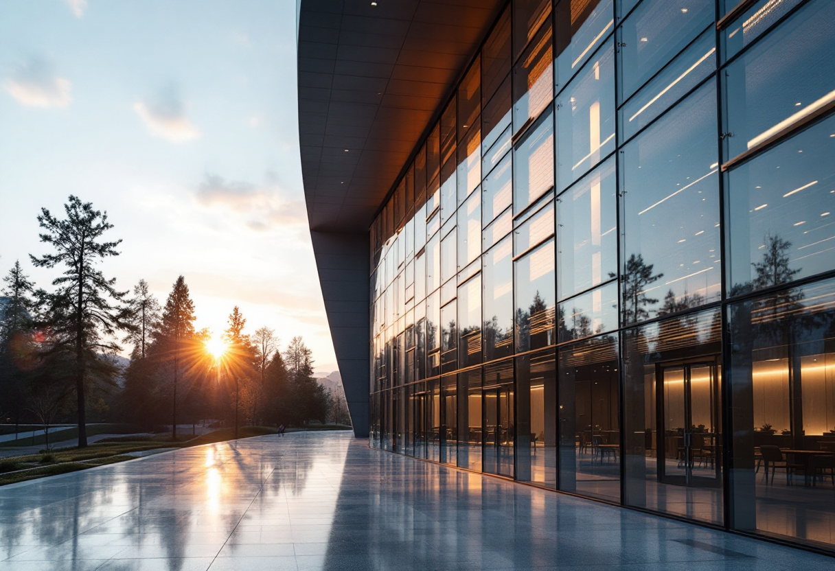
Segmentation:
{"type": "Polygon", "coordinates": [[[625,323],[719,298],[716,144],[711,82],[621,151],[625,323]]]}

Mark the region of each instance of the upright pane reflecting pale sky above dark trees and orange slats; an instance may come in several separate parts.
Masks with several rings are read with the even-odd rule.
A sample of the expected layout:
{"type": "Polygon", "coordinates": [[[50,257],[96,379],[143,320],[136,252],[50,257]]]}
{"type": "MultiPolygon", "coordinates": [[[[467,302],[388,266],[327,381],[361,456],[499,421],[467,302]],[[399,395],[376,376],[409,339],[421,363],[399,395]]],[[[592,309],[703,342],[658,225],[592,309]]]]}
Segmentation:
{"type": "Polygon", "coordinates": [[[514,262],[516,294],[516,351],[523,352],[556,342],[554,240],[514,262]]]}

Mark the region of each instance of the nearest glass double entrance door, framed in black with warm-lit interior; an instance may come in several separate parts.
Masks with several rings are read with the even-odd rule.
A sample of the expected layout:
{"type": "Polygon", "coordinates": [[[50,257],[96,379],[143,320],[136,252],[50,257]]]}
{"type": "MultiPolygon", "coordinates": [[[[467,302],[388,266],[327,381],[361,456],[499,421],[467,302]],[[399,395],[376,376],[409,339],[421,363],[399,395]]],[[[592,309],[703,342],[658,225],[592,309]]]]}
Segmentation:
{"type": "Polygon", "coordinates": [[[658,477],[689,487],[721,485],[716,361],[659,366],[658,477]]]}

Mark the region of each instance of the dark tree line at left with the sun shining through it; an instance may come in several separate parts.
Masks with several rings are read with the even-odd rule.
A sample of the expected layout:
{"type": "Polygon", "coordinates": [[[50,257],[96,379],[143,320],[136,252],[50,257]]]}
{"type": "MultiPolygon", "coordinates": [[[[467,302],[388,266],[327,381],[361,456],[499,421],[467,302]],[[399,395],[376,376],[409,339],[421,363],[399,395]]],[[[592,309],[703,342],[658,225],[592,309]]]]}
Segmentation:
{"type": "Polygon", "coordinates": [[[349,422],[347,410],[316,382],[301,337],[280,351],[276,331],[245,333],[235,306],[220,338],[196,329],[195,303],[180,275],[164,304],[145,280],[121,291],[100,265],[122,240],[106,212],[70,196],[58,218],[38,215],[48,254],[34,267],[61,271],[47,290],[16,261],[0,298],[0,419],[76,422],[87,446],[88,422],[130,422],[144,429],[216,422],[301,424],[349,422]],[[124,366],[118,355],[130,348],[124,366]]]}

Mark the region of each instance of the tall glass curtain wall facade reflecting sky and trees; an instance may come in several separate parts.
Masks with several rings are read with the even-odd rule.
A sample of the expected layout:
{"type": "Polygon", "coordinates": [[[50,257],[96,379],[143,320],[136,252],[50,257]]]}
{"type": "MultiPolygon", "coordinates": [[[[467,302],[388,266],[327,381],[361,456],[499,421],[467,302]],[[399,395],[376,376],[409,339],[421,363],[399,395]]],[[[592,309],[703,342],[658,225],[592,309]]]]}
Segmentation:
{"type": "Polygon", "coordinates": [[[511,0],[372,223],[372,446],[835,550],[833,21],[511,0]]]}

